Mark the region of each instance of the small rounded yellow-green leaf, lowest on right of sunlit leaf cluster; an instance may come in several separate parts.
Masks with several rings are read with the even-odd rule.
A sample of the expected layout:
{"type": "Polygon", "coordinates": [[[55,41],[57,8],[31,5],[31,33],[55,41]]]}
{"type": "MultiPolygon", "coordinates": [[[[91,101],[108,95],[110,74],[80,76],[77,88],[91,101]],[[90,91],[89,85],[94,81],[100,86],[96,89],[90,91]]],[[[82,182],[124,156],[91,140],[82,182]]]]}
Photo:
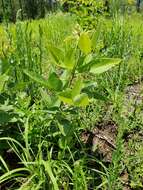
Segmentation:
{"type": "Polygon", "coordinates": [[[85,93],[79,94],[74,98],[75,106],[87,106],[89,104],[88,95],[85,93]]]}

